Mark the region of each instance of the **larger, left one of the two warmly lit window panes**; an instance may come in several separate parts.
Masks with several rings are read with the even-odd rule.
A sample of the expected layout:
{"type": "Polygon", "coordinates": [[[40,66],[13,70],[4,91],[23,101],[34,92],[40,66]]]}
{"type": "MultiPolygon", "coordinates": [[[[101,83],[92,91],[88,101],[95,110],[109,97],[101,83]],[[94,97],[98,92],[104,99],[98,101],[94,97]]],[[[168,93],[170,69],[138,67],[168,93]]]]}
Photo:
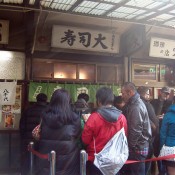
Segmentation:
{"type": "Polygon", "coordinates": [[[76,64],[55,63],[54,78],[76,79],[76,64]]]}

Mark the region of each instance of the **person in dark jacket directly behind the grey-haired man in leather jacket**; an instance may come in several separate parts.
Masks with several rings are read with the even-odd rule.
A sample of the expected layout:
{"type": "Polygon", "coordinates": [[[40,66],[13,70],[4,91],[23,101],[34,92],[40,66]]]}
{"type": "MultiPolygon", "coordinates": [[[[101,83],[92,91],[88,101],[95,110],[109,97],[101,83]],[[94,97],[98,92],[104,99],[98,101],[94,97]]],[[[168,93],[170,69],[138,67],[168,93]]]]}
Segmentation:
{"type": "MultiPolygon", "coordinates": [[[[159,134],[159,119],[156,116],[154,112],[154,108],[149,102],[150,100],[150,92],[149,92],[149,87],[146,86],[140,86],[137,89],[137,92],[140,94],[140,98],[142,99],[143,103],[146,106],[146,109],[148,111],[148,116],[151,124],[151,131],[152,131],[152,139],[150,139],[150,145],[149,145],[149,151],[148,151],[148,156],[147,159],[152,158],[154,154],[153,150],[153,142],[155,139],[155,136],[159,134]]],[[[146,162],[145,163],[145,172],[148,174],[149,170],[151,168],[151,162],[146,162]]]]}

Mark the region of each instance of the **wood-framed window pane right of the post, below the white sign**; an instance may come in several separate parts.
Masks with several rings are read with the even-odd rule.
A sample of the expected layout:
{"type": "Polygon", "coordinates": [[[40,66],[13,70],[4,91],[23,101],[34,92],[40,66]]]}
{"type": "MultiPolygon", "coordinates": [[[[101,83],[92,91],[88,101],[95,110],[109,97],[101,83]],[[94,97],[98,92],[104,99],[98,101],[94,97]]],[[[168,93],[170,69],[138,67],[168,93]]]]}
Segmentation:
{"type": "Polygon", "coordinates": [[[133,64],[133,79],[134,80],[157,80],[157,65],[156,64],[133,64]]]}

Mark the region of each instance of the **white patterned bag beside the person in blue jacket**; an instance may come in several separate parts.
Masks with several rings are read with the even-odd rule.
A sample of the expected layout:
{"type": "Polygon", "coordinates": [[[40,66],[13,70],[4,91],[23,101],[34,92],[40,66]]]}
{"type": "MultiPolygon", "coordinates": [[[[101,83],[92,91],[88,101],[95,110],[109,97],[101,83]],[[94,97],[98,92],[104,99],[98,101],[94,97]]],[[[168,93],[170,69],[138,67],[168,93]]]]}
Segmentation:
{"type": "MultiPolygon", "coordinates": [[[[172,155],[175,154],[175,146],[165,146],[163,145],[162,149],[160,150],[160,154],[159,157],[163,157],[163,156],[168,156],[168,155],[172,155]]],[[[167,159],[168,161],[175,161],[175,158],[171,158],[171,159],[167,159]]]]}

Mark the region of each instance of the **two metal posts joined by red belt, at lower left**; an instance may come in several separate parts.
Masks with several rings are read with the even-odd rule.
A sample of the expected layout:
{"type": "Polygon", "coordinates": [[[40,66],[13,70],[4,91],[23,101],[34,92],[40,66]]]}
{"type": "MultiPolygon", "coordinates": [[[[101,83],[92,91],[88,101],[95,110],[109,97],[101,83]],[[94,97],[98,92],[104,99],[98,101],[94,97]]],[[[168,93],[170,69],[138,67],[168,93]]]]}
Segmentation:
{"type": "Polygon", "coordinates": [[[34,174],[34,155],[40,159],[47,159],[50,162],[50,175],[55,175],[56,169],[56,152],[51,151],[48,154],[41,154],[34,150],[34,142],[30,142],[28,145],[28,151],[30,152],[30,175],[34,174]]]}

